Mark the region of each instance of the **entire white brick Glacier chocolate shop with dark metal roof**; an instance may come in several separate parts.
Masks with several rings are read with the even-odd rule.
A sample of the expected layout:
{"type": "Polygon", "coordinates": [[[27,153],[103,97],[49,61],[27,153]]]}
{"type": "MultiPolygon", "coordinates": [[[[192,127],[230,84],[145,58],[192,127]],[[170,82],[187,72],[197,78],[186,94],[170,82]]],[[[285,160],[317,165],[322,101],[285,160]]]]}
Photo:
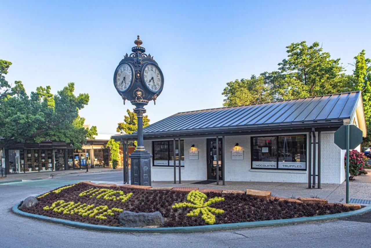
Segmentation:
{"type": "Polygon", "coordinates": [[[177,113],[143,133],[154,181],[173,181],[180,156],[182,180],[310,185],[345,180],[345,151],[334,132],[346,124],[367,133],[360,91],[177,113]]]}

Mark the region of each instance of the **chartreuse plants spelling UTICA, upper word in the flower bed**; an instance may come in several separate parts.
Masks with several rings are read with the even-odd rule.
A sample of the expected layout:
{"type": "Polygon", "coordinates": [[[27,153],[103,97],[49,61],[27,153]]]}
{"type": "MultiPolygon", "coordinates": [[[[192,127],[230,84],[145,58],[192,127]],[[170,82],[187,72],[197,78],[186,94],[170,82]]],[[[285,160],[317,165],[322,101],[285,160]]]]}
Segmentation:
{"type": "Polygon", "coordinates": [[[126,202],[133,193],[125,194],[122,190],[113,190],[113,189],[88,189],[82,191],[79,196],[90,195],[89,198],[96,197],[96,199],[103,198],[104,200],[114,201],[121,200],[121,202],[126,202]]]}

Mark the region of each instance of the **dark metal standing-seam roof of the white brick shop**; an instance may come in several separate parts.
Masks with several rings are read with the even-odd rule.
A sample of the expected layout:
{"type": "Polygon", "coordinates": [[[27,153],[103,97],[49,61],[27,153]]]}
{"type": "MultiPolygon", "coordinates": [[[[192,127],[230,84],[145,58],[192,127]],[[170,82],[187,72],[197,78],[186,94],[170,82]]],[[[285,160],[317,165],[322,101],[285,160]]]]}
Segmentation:
{"type": "MultiPolygon", "coordinates": [[[[222,130],[303,123],[342,122],[350,119],[361,91],[305,97],[236,107],[181,112],[143,129],[145,136],[155,133],[222,130]]],[[[131,135],[134,136],[135,134],[131,135]]],[[[126,137],[128,135],[123,135],[126,137]]]]}

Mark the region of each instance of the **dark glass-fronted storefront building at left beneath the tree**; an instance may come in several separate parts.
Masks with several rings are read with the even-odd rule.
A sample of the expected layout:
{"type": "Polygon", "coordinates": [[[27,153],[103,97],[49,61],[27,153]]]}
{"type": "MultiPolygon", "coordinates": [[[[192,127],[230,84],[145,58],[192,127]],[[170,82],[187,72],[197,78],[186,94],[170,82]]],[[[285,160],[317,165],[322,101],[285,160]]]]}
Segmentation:
{"type": "Polygon", "coordinates": [[[63,142],[12,145],[0,149],[2,165],[7,174],[110,167],[110,136],[87,139],[81,149],[63,142]]]}

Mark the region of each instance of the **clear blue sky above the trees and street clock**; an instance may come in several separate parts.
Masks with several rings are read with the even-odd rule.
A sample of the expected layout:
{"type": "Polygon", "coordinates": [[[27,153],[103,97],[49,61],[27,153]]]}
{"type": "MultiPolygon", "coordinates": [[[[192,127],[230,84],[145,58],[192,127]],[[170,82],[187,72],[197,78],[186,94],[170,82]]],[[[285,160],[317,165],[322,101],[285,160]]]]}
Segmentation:
{"type": "Polygon", "coordinates": [[[318,41],[348,63],[371,57],[371,1],[2,1],[0,58],[28,93],[75,82],[81,111],[99,133],[115,133],[127,108],[113,73],[137,35],[165,78],[151,123],[220,107],[226,82],[277,69],[292,42],[318,41]]]}

